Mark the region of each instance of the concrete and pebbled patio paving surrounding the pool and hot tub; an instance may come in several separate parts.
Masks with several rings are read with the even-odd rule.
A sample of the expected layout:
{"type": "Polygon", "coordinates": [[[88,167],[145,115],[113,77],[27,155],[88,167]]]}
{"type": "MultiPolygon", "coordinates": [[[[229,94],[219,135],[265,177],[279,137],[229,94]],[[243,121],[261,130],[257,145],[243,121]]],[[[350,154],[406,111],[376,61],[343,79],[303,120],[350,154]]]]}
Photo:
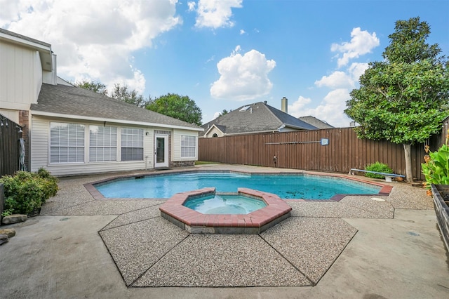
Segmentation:
{"type": "Polygon", "coordinates": [[[62,179],[41,216],[15,225],[0,246],[1,298],[449,297],[421,188],[391,183],[383,202],[288,201],[292,217],[262,234],[190,235],[159,216],[163,201],[98,201],[83,187],[110,176],[62,179]]]}

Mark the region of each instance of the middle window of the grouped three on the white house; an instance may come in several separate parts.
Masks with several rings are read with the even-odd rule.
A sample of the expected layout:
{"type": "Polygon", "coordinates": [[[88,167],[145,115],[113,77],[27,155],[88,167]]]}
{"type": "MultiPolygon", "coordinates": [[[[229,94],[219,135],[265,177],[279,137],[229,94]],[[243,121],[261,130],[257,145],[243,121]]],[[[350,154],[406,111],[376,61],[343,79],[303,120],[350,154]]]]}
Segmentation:
{"type": "Polygon", "coordinates": [[[116,161],[117,128],[113,126],[89,126],[89,161],[116,161]]]}

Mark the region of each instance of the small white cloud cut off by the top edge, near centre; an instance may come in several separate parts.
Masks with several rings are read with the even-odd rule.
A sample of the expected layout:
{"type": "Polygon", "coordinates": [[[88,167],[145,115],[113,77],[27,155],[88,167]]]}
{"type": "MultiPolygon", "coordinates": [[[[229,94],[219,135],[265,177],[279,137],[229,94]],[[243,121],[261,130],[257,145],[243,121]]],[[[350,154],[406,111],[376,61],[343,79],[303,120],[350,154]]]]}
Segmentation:
{"type": "MultiPolygon", "coordinates": [[[[199,0],[196,27],[232,27],[232,8],[241,8],[243,0],[199,0]]],[[[191,6],[189,5],[189,8],[191,6]]]]}

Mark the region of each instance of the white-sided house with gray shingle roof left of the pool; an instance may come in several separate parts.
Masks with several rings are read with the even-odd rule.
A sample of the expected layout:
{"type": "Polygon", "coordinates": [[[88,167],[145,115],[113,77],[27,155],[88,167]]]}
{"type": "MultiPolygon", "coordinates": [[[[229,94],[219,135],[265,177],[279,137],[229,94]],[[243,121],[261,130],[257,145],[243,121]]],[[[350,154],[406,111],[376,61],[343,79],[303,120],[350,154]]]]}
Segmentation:
{"type": "Polygon", "coordinates": [[[0,114],[22,126],[29,171],[194,165],[203,128],[68,84],[51,45],[0,29],[0,114]]]}

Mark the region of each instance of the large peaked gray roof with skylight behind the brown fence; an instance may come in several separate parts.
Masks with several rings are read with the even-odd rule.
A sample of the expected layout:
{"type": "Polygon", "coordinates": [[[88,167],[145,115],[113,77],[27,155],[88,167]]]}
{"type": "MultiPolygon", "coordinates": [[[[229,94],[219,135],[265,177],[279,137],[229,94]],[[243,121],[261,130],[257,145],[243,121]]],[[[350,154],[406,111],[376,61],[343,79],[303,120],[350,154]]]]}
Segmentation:
{"type": "Polygon", "coordinates": [[[241,106],[232,112],[203,124],[204,132],[200,133],[200,135],[204,135],[214,124],[225,134],[276,131],[283,125],[297,128],[298,130],[316,129],[315,126],[292,117],[290,114],[286,114],[264,102],[241,106]],[[241,111],[244,107],[248,107],[248,109],[241,111]]]}

